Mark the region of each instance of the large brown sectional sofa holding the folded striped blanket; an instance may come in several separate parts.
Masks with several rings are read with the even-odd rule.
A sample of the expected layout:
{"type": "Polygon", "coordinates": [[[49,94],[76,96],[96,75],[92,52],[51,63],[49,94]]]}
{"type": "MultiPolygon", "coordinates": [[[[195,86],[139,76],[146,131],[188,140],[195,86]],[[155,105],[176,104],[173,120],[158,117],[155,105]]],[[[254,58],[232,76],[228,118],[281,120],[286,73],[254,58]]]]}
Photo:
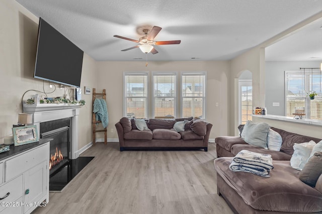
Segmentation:
{"type": "Polygon", "coordinates": [[[241,137],[215,139],[217,157],[217,192],[234,213],[322,213],[322,175],[311,187],[299,179],[299,170],[291,167],[294,143],[319,142],[321,139],[273,128],[282,136],[281,151],[271,151],[247,144],[241,137]],[[233,156],[241,150],[271,154],[274,168],[270,177],[229,169],[233,156]]]}

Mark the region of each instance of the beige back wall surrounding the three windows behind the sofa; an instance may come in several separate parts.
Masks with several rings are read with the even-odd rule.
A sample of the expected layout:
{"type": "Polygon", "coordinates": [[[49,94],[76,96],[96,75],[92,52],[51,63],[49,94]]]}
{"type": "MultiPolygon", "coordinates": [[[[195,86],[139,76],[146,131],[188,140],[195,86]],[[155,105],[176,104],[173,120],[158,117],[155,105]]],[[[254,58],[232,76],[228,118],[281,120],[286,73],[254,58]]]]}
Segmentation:
{"type": "Polygon", "coordinates": [[[108,138],[117,139],[114,124],[123,117],[123,72],[126,71],[206,71],[206,120],[213,124],[210,138],[228,133],[228,61],[180,62],[97,62],[98,90],[107,90],[108,138]],[[218,107],[215,103],[218,102],[218,107]],[[111,129],[114,129],[113,133],[111,129]]]}

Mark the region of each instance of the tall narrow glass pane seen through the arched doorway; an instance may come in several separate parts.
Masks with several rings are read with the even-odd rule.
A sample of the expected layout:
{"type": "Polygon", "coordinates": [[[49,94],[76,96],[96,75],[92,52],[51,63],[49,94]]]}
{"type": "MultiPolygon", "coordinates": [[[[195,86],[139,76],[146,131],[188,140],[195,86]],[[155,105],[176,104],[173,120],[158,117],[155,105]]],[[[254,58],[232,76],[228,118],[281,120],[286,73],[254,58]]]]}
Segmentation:
{"type": "Polygon", "coordinates": [[[252,120],[253,87],[252,80],[239,80],[239,124],[252,120]]]}

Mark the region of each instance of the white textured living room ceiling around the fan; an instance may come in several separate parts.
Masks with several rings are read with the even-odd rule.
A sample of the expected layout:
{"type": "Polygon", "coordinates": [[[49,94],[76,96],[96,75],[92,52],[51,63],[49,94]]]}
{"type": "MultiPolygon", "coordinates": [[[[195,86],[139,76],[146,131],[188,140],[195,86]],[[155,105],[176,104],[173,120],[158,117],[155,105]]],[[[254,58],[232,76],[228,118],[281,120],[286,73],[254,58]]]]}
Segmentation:
{"type": "Polygon", "coordinates": [[[321,0],[16,1],[97,61],[145,60],[138,48],[121,52],[136,43],[113,37],[138,40],[142,25],[163,28],[155,41],[181,40],[155,46],[149,61],[229,60],[322,8],[321,0]]]}

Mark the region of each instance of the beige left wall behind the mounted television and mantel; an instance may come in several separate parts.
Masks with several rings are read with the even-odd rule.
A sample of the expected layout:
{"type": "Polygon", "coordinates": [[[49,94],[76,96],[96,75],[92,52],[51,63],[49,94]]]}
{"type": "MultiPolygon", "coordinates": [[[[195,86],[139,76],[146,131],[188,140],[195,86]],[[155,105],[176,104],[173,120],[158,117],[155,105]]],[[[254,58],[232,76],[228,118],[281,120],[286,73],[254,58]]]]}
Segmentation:
{"type": "MultiPolygon", "coordinates": [[[[12,135],[12,125],[18,122],[22,112],[21,99],[27,90],[52,91],[47,81],[33,78],[39,19],[21,7],[16,1],[0,1],[0,143],[5,136],[12,135]]],[[[96,61],[84,55],[82,88],[96,87],[96,61]]],[[[57,85],[58,86],[58,85],[57,85]]],[[[37,92],[27,92],[28,99],[37,92]]],[[[63,89],[57,87],[49,97],[62,96],[63,89]]],[[[87,104],[79,116],[78,149],[91,140],[92,96],[82,95],[87,104]]]]}

